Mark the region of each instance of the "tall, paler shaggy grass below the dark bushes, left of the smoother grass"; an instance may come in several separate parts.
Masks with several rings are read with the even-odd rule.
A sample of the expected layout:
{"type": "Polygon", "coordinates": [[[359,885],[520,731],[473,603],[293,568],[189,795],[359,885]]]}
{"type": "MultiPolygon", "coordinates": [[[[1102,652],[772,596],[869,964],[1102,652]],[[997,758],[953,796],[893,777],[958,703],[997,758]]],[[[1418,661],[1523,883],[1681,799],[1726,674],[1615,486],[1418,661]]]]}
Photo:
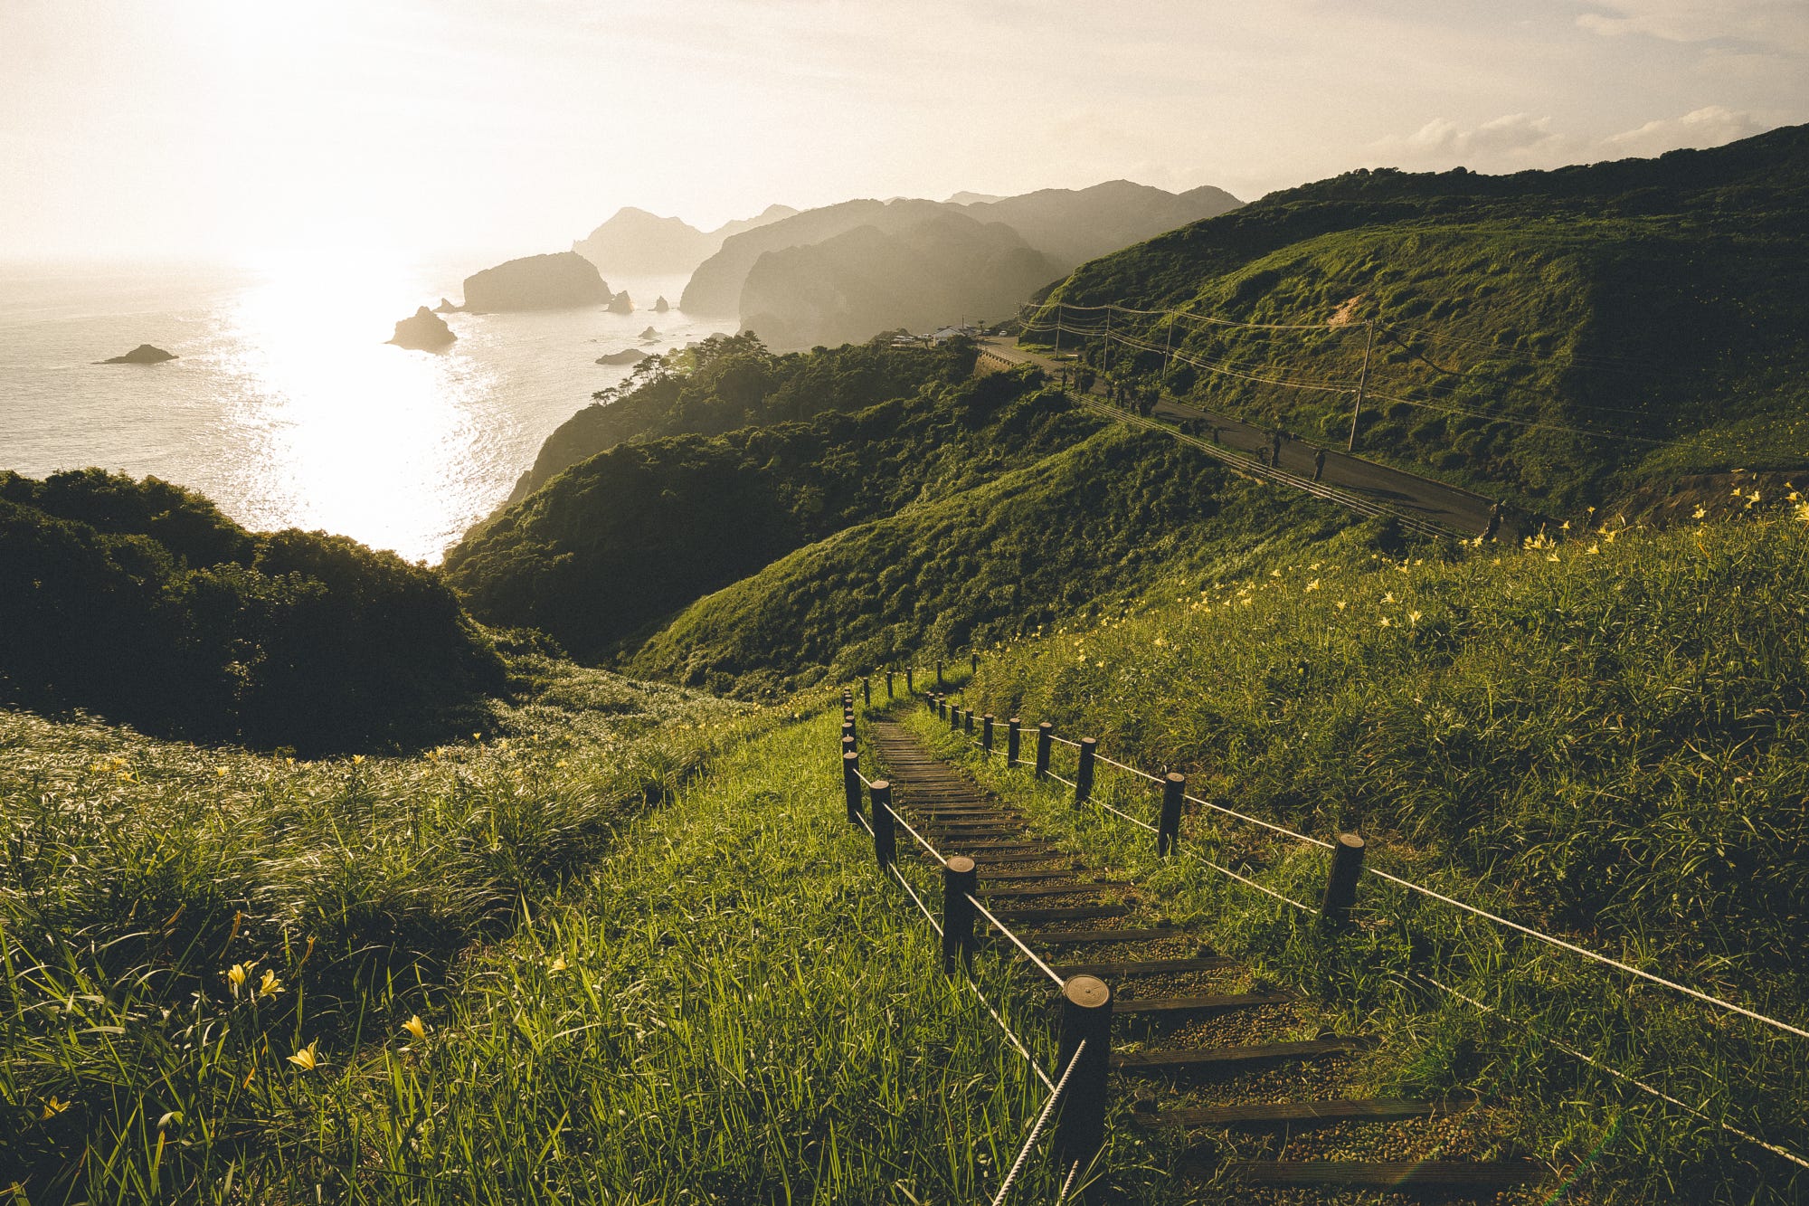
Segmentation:
{"type": "Polygon", "coordinates": [[[230,1166],[284,1166],[320,1121],[284,1056],[356,1047],[423,1007],[461,951],[510,933],[763,723],[517,665],[537,690],[499,712],[499,737],[407,759],[293,761],[0,712],[0,1184],[38,1202],[230,1197],[230,1166]],[[282,991],[233,994],[235,963],[282,991]]]}

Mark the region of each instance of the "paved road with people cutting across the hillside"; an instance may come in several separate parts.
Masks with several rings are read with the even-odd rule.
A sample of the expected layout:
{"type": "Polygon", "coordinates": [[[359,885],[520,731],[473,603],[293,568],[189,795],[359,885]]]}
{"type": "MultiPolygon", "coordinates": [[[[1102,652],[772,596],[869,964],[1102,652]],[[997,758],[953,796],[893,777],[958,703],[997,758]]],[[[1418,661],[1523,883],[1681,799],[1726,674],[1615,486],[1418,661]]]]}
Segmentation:
{"type": "MultiPolygon", "coordinates": [[[[1064,368],[1073,368],[1071,362],[1056,362],[1051,357],[1026,351],[1009,339],[982,339],[980,349],[1006,364],[1035,364],[1042,371],[1049,373],[1049,377],[1058,375],[1064,368]]],[[[1102,391],[1094,386],[1094,395],[1102,391]]],[[[1232,418],[1230,415],[1203,411],[1196,406],[1187,406],[1172,398],[1163,398],[1156,406],[1154,416],[1176,424],[1183,431],[1189,431],[1219,447],[1252,456],[1259,455],[1264,464],[1274,449],[1274,431],[1268,427],[1259,427],[1241,418],[1232,418]]],[[[1297,483],[1290,482],[1290,478],[1306,478],[1310,482],[1313,478],[1313,458],[1319,451],[1324,451],[1326,455],[1324,473],[1319,476],[1319,482],[1335,487],[1337,493],[1348,493],[1368,502],[1371,507],[1382,507],[1404,516],[1413,516],[1460,536],[1476,536],[1489,525],[1489,509],[1494,503],[1482,494],[1458,489],[1456,485],[1445,485],[1444,482],[1435,482],[1431,478],[1422,478],[1404,469],[1378,465],[1373,460],[1351,456],[1350,453],[1340,453],[1337,449],[1322,449],[1321,445],[1308,444],[1304,440],[1284,438],[1281,442],[1279,467],[1284,473],[1275,474],[1270,480],[1288,485],[1297,483]]],[[[1259,469],[1255,473],[1261,474],[1259,469]]],[[[1333,502],[1339,502],[1337,494],[1331,498],[1333,502]]],[[[1501,523],[1501,536],[1512,536],[1514,527],[1512,516],[1505,518],[1501,523]]]]}

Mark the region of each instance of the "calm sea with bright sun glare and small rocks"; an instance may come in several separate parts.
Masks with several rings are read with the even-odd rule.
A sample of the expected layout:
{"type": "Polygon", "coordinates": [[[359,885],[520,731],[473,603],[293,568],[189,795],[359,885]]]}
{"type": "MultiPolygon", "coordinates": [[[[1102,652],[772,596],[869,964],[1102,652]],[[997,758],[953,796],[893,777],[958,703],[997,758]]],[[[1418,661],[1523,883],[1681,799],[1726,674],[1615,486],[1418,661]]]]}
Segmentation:
{"type": "Polygon", "coordinates": [[[485,266],[0,264],[0,469],[156,474],[251,529],[326,529],[438,561],[554,427],[628,375],[599,355],[725,330],[651,311],[682,277],[610,279],[642,310],[454,313],[449,351],[384,342],[485,266]],[[639,339],[648,326],[657,342],[639,339]],[[137,344],[181,359],[94,364],[137,344]]]}

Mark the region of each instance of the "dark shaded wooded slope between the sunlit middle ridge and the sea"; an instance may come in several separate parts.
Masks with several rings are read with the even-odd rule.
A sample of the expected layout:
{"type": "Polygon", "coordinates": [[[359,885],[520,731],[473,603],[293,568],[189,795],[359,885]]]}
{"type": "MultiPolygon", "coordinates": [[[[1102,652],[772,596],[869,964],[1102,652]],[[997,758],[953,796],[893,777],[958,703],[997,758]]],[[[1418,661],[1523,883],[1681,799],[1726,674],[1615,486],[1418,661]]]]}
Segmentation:
{"type": "Polygon", "coordinates": [[[461,541],[445,570],[479,619],[595,657],[794,549],[1098,427],[1011,373],[807,424],[619,445],[461,541]]]}

